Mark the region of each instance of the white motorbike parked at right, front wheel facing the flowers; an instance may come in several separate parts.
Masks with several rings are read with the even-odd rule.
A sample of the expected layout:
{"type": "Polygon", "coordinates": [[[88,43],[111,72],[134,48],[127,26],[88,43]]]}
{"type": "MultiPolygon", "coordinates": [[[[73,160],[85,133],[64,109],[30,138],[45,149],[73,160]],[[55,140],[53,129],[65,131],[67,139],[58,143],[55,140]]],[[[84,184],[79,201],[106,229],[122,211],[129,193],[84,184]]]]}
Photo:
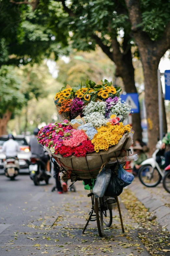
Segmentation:
{"type": "Polygon", "coordinates": [[[164,176],[164,150],[161,150],[162,141],[156,145],[156,150],[152,157],[143,161],[139,168],[138,177],[146,187],[156,187],[164,176]]]}

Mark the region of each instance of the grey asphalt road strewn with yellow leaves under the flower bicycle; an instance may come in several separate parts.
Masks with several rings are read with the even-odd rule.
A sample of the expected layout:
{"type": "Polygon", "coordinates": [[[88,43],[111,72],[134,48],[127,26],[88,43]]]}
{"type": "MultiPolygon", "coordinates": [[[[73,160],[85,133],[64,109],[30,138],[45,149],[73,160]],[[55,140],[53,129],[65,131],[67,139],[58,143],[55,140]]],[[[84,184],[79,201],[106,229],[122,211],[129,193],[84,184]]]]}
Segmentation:
{"type": "MultiPolygon", "coordinates": [[[[26,191],[30,186],[27,178],[24,177],[26,191]]],[[[129,200],[125,202],[123,199],[129,206],[128,210],[119,198],[125,233],[121,231],[118,209],[114,207],[113,224],[110,228],[104,226],[104,237],[98,236],[96,221],[90,222],[82,234],[91,209],[91,198],[87,197],[89,191],[84,190],[81,181],[75,185],[77,192],[61,195],[51,193],[52,184],[33,186],[40,192],[21,195],[12,208],[8,197],[8,206],[0,210],[1,229],[6,225],[0,231],[0,255],[149,256],[149,252],[152,255],[170,255],[168,252],[165,254],[168,251],[167,232],[146,220],[146,209],[136,199],[132,204],[134,196],[129,195],[128,189],[122,195],[129,200]]]]}

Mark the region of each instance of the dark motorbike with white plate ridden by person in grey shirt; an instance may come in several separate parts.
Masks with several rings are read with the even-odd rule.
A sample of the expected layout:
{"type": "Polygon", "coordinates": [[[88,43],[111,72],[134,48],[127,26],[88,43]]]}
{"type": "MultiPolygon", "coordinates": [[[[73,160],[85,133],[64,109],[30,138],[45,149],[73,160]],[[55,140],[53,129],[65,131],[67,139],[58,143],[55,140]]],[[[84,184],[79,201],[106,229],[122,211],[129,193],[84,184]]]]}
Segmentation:
{"type": "Polygon", "coordinates": [[[30,158],[29,171],[30,178],[34,181],[35,186],[38,186],[39,182],[43,180],[45,180],[46,184],[49,183],[51,175],[47,172],[45,163],[37,156],[30,158]]]}

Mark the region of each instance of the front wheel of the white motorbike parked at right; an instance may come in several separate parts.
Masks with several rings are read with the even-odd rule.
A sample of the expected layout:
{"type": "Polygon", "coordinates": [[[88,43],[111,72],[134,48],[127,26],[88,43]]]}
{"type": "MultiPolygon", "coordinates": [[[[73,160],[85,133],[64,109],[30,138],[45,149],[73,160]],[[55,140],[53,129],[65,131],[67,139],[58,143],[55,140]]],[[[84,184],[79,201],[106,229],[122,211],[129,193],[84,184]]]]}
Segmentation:
{"type": "Polygon", "coordinates": [[[153,168],[150,164],[143,165],[139,168],[138,172],[140,182],[146,187],[156,187],[162,179],[158,169],[153,168]]]}

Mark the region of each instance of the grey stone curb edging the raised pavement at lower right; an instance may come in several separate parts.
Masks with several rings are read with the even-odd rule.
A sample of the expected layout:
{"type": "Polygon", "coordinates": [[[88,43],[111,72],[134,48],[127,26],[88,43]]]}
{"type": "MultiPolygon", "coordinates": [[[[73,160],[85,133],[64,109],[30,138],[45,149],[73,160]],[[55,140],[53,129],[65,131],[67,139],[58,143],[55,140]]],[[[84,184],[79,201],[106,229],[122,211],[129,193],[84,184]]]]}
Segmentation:
{"type": "Polygon", "coordinates": [[[146,191],[142,184],[133,185],[132,183],[128,188],[135,193],[137,199],[148,208],[149,212],[153,212],[156,215],[157,222],[162,227],[166,226],[166,229],[170,231],[170,208],[164,206],[164,203],[159,200],[158,196],[146,191]]]}

